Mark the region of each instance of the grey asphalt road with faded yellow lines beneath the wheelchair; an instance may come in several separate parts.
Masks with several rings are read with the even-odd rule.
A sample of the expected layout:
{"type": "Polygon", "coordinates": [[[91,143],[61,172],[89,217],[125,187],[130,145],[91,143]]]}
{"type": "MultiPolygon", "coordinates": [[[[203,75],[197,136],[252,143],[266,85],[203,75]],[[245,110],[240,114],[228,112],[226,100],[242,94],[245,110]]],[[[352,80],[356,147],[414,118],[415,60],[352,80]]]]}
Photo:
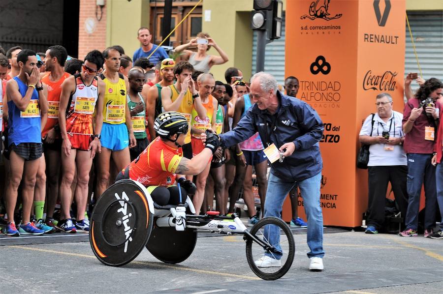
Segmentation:
{"type": "Polygon", "coordinates": [[[325,234],[325,270],[310,272],[306,235],[294,237],[294,263],[277,281],[253,274],[241,236],[199,237],[190,258],[179,265],[163,264],[144,249],[128,265],[105,266],[89,242],[5,245],[0,246],[0,292],[442,293],[443,240],[325,234]]]}

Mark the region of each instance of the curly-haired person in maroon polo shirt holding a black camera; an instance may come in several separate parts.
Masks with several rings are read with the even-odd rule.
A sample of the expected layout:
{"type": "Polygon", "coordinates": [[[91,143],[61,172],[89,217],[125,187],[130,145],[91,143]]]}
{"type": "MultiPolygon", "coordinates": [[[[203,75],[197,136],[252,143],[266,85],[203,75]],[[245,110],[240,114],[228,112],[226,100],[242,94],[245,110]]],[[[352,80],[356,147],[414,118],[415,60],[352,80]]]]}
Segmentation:
{"type": "Polygon", "coordinates": [[[435,166],[431,159],[434,152],[434,137],[439,124],[440,103],[443,84],[440,80],[427,80],[408,100],[403,111],[403,131],[405,132],[405,152],[408,157],[408,210],[406,230],[400,235],[417,236],[418,210],[420,206],[421,186],[424,182],[426,207],[424,236],[428,237],[435,226],[437,192],[435,166]]]}

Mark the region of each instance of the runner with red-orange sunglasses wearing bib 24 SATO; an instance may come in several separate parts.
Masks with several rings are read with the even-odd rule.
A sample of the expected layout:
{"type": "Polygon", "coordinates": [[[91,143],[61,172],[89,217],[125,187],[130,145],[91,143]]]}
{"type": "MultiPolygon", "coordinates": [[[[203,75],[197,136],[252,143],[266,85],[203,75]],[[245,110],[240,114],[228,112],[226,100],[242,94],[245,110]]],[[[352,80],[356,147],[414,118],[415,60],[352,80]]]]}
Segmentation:
{"type": "Polygon", "coordinates": [[[96,77],[96,73],[102,66],[103,55],[93,50],[86,55],[82,72],[67,78],[62,86],[59,107],[59,125],[63,139],[60,227],[65,233],[76,233],[77,230],[89,232],[89,222],[85,220],[89,174],[95,153],[101,152],[99,134],[103,123],[105,84],[96,77]],[[69,208],[71,184],[75,174],[77,174],[77,187],[74,200],[77,204],[77,218],[74,225],[69,208]]]}

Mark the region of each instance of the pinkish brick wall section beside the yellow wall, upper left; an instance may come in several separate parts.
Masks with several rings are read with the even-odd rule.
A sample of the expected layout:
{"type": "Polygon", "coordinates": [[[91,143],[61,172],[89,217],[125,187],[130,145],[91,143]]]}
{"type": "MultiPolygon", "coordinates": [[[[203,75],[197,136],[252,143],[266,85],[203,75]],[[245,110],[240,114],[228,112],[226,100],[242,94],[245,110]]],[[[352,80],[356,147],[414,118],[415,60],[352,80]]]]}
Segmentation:
{"type": "MultiPolygon", "coordinates": [[[[103,51],[106,48],[106,6],[100,21],[95,17],[95,9],[95,0],[80,0],[78,58],[82,60],[91,50],[103,51]],[[93,32],[89,33],[87,29],[93,32]]],[[[97,16],[100,17],[100,7],[97,7],[97,16]]]]}

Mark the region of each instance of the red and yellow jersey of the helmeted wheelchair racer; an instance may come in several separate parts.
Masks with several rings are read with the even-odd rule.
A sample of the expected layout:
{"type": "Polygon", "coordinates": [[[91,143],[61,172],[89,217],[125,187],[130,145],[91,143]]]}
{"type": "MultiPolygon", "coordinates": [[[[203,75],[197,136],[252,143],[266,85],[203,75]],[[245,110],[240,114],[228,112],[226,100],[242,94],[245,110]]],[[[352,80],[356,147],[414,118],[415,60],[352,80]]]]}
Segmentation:
{"type": "Polygon", "coordinates": [[[146,187],[172,185],[182,157],[182,148],[169,147],[157,137],[129,164],[129,178],[146,187]]]}

